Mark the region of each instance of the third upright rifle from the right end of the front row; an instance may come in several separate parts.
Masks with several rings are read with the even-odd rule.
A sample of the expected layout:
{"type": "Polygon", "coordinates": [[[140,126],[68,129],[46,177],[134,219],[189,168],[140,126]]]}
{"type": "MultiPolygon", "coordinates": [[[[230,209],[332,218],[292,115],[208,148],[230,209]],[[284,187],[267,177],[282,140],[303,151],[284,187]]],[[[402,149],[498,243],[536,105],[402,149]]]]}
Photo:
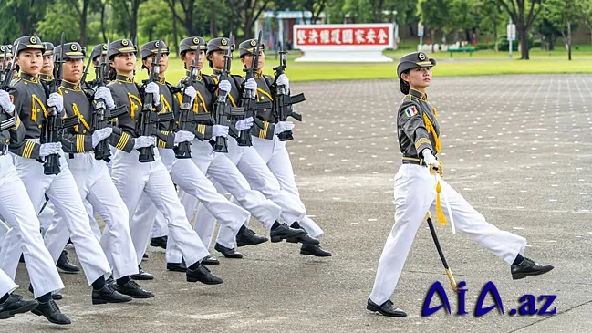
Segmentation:
{"type": "MultiPolygon", "coordinates": [[[[233,33],[230,33],[228,40],[233,40],[233,33]]],[[[231,43],[228,46],[228,49],[224,53],[224,68],[220,73],[220,77],[218,78],[218,82],[222,80],[227,80],[228,75],[230,74],[230,65],[233,61],[233,50],[234,45],[231,43]]],[[[219,93],[218,99],[216,99],[215,103],[213,104],[212,109],[212,119],[215,125],[223,125],[228,126],[230,130],[230,134],[236,138],[238,136],[238,132],[234,125],[232,124],[231,120],[233,117],[244,117],[244,109],[243,108],[233,108],[230,103],[228,103],[228,94],[227,93],[219,93]]],[[[216,152],[228,152],[228,142],[224,137],[216,137],[216,140],[213,144],[213,151],[216,152]]]]}

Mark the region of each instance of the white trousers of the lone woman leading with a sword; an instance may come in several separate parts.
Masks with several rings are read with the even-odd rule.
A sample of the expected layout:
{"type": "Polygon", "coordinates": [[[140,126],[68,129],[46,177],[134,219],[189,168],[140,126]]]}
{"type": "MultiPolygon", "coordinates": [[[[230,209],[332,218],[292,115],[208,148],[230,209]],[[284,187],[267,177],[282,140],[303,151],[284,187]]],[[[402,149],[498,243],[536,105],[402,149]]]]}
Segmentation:
{"type": "MultiPolygon", "coordinates": [[[[435,210],[436,179],[428,168],[403,164],[395,175],[395,224],[380,255],[379,268],[370,299],[382,305],[395,291],[413,239],[425,221],[428,210],[435,210]]],[[[441,192],[448,197],[456,229],[465,233],[478,245],[490,250],[493,255],[512,264],[516,255],[524,254],[526,240],[516,234],[499,230],[485,221],[461,194],[448,183],[441,182],[441,192]]],[[[450,221],[446,202],[441,194],[441,206],[450,221]]],[[[435,223],[435,221],[434,221],[435,223]]]]}

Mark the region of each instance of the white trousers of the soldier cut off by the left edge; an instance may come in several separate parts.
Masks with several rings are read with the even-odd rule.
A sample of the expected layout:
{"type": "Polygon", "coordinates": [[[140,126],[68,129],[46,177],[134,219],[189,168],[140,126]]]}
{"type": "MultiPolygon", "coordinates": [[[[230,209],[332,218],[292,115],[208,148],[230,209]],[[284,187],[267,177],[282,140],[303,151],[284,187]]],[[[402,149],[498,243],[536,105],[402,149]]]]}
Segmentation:
{"type": "MultiPolygon", "coordinates": [[[[38,161],[35,162],[39,164],[38,161]]],[[[35,289],[35,297],[62,289],[64,285],[57,274],[56,265],[43,245],[43,238],[39,233],[36,210],[26,193],[25,185],[18,177],[15,166],[6,155],[0,156],[0,214],[12,226],[6,234],[0,252],[0,268],[14,280],[18,259],[22,253],[31,284],[35,289]]]]}

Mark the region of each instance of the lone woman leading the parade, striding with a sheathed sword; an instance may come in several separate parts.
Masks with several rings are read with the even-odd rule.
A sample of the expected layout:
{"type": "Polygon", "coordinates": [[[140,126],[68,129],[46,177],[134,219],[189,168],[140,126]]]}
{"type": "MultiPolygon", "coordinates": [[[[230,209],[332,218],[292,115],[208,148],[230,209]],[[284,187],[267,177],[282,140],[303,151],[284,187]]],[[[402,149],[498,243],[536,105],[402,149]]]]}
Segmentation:
{"type": "Polygon", "coordinates": [[[407,316],[405,311],[394,307],[389,297],[397,286],[421,222],[434,208],[436,215],[445,219],[443,212],[447,212],[446,205],[450,205],[456,227],[475,243],[511,264],[513,279],[538,276],[553,269],[552,265],[539,265],[524,258],[526,240],[523,237],[487,223],[461,194],[448,183],[441,184],[438,180],[435,173],[442,173],[441,163],[436,159],[441,152],[441,129],[436,109],[426,94],[431,84],[431,68],[435,65],[435,59],[423,52],[414,52],[401,57],[397,68],[400,91],[405,97],[397,118],[403,160],[395,176],[395,224],[380,255],[374,287],[367,302],[369,311],[383,316],[407,316]],[[440,203],[436,192],[444,192],[448,203],[440,203]],[[439,207],[443,207],[441,211],[439,207]]]}

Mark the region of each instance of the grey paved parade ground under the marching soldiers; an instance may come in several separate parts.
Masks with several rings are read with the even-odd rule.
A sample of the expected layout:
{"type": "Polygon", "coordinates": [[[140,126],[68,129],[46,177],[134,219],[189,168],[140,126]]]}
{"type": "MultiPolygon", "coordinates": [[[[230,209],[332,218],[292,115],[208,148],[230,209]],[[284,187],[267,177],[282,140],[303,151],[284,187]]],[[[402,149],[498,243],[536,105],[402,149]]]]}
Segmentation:
{"type": "MultiPolygon", "coordinates": [[[[332,258],[298,254],[297,245],[241,248],[243,260],[221,258],[221,286],[189,284],[165,270],[161,249],[144,267],[151,300],[90,305],[83,275],[63,278],[59,302],[85,332],[589,332],[592,319],[592,120],[590,76],[436,78],[430,99],[443,127],[441,160],[449,183],[498,227],[528,239],[526,255],[556,265],[545,276],[512,281],[509,265],[462,234],[441,227],[441,243],[457,280],[467,281],[469,315],[421,317],[431,284],[446,287],[457,309],[427,226],[411,249],[393,297],[409,317],[366,312],[382,246],[393,224],[392,178],[400,166],[394,121],[401,95],[395,80],[295,84],[306,93],[289,151],[308,213],[326,231],[332,258]],[[504,315],[473,317],[479,290],[493,281],[504,315]],[[511,317],[523,294],[556,295],[552,317],[511,317]]],[[[260,224],[253,224],[265,233],[260,224]]],[[[70,250],[72,254],[72,250],[70,250]]],[[[73,256],[73,255],[70,255],[73,256]]],[[[22,286],[26,271],[17,276],[22,286]]],[[[27,297],[25,290],[20,291],[27,297]]],[[[486,305],[492,304],[487,297],[486,305]]],[[[1,331],[55,326],[31,314],[2,322],[1,331]]]]}

